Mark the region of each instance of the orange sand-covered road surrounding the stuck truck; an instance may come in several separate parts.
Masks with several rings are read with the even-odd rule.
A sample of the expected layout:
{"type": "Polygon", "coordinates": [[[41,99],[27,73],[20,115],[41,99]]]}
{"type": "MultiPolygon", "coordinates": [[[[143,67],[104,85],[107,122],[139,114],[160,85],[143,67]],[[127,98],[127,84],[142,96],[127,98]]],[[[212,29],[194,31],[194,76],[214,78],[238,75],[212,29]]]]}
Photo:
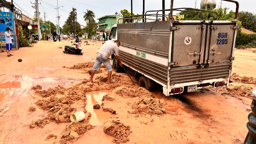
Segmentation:
{"type": "Polygon", "coordinates": [[[115,84],[105,84],[104,67],[96,73],[94,82],[88,83],[87,70],[101,44],[82,44],[82,56],[64,54],[58,47],[65,44],[70,42],[39,42],[32,48],[13,51],[12,57],[0,53],[4,64],[0,66],[0,83],[14,85],[0,92],[0,143],[241,144],[244,141],[251,96],[243,95],[245,88],[256,87],[244,84],[254,83],[253,78],[241,81],[243,76],[255,77],[253,70],[244,65],[246,60],[252,66],[256,63],[251,60],[256,54],[251,49],[235,50],[238,59],[232,73],[240,77],[232,77],[235,82],[229,89],[206,87],[198,92],[165,97],[161,89],[151,93],[132,85],[122,73],[113,72],[115,84]],[[5,66],[7,62],[9,65],[5,66]],[[31,90],[36,85],[42,87],[36,89],[38,92],[31,90]],[[92,109],[97,103],[101,109],[92,109]],[[29,111],[34,109],[31,107],[35,111],[29,111]],[[51,108],[54,111],[49,111],[51,108]],[[69,114],[76,111],[84,111],[86,119],[74,124],[69,114]]]}

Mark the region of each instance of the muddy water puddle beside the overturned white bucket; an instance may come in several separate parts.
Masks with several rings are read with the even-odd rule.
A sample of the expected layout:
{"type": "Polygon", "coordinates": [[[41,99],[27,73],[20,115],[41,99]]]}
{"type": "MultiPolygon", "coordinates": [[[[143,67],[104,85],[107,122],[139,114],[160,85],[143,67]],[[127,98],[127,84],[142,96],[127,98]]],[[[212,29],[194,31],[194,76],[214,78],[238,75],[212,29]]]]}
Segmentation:
{"type": "Polygon", "coordinates": [[[89,124],[93,126],[100,126],[105,122],[109,117],[115,116],[115,114],[112,114],[111,112],[104,112],[102,109],[93,109],[93,105],[95,104],[102,104],[102,98],[103,95],[108,94],[109,91],[103,90],[103,91],[94,91],[89,92],[87,97],[87,105],[86,105],[86,111],[91,113],[91,118],[89,120],[89,124]]]}

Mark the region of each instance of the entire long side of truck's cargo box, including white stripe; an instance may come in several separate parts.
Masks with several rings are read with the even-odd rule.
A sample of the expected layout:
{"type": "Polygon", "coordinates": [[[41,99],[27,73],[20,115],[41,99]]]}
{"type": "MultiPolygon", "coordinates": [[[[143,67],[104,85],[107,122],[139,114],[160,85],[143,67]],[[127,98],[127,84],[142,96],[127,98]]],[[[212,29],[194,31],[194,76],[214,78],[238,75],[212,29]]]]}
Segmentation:
{"type": "Polygon", "coordinates": [[[167,87],[170,21],[117,24],[117,33],[120,60],[167,87]]]}

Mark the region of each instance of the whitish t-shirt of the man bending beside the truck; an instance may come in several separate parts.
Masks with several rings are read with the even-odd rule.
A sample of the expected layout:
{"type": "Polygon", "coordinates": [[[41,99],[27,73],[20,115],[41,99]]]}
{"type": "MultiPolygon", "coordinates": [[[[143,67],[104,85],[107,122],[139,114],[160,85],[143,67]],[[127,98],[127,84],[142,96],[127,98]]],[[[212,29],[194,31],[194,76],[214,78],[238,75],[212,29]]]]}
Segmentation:
{"type": "Polygon", "coordinates": [[[110,57],[112,54],[119,56],[119,47],[117,46],[117,43],[113,42],[112,40],[108,40],[100,47],[98,52],[106,57],[110,57]]]}

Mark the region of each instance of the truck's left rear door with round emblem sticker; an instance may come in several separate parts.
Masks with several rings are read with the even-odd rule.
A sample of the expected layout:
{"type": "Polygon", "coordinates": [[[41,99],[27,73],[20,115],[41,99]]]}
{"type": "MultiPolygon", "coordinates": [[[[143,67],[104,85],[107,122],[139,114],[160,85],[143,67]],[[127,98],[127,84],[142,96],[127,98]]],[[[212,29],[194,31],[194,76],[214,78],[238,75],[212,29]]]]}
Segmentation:
{"type": "Polygon", "coordinates": [[[173,27],[177,28],[172,31],[172,62],[178,63],[175,66],[198,64],[205,36],[202,23],[174,23],[173,27]]]}

